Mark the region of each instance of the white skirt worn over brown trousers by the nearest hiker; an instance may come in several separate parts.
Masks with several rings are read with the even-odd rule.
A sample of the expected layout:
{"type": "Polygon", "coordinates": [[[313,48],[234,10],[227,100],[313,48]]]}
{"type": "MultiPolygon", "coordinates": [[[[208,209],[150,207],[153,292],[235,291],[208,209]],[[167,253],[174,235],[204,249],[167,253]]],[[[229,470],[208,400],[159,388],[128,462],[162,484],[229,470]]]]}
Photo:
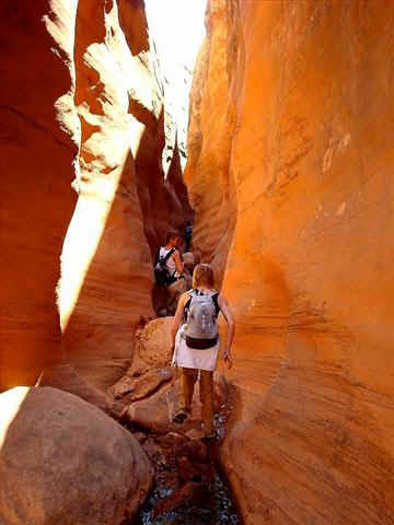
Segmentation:
{"type": "Polygon", "coordinates": [[[209,370],[216,369],[219,354],[219,339],[212,348],[197,350],[186,345],[184,336],[186,325],[182,325],[175,336],[175,350],[172,359],[172,366],[181,366],[183,369],[209,370]]]}

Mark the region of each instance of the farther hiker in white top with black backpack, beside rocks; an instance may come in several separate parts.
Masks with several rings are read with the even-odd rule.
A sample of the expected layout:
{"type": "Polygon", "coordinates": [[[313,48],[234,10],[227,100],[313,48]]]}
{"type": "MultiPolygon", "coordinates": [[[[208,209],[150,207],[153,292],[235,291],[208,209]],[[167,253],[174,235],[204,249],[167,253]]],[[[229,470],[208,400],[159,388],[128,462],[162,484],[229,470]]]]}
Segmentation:
{"type": "Polygon", "coordinates": [[[154,265],[157,283],[166,288],[167,291],[166,315],[174,314],[181,294],[190,287],[192,282],[179,254],[178,245],[181,241],[181,235],[176,232],[169,232],[165,237],[165,245],[159,248],[154,265]]]}

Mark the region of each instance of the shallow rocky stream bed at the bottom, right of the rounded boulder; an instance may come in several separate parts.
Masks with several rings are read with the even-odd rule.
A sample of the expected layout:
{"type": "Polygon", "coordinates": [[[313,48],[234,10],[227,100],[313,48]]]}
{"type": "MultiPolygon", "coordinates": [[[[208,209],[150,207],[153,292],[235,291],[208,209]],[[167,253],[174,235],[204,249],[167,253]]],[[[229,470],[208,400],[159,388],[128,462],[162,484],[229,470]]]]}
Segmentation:
{"type": "Polygon", "coordinates": [[[188,439],[181,430],[165,435],[136,434],[154,467],[154,486],[135,523],[241,525],[230,490],[216,467],[225,420],[224,410],[216,416],[217,440],[208,444],[188,439]]]}

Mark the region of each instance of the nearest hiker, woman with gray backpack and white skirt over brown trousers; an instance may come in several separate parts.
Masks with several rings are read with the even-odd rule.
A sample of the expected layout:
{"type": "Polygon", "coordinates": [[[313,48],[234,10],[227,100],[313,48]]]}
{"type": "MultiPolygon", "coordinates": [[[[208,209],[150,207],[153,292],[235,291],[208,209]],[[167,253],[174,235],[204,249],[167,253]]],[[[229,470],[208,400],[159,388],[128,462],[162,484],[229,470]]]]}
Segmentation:
{"type": "Polygon", "coordinates": [[[231,346],[234,339],[234,319],[229,304],[215,289],[210,265],[197,265],[193,272],[193,289],[183,293],[176,308],[173,326],[172,364],[181,368],[179,410],[173,420],[183,423],[192,412],[194,386],[200,374],[200,401],[205,438],[213,433],[213,371],[218,361],[218,315],[221,312],[228,323],[227,342],[222,359],[232,366],[231,346]]]}

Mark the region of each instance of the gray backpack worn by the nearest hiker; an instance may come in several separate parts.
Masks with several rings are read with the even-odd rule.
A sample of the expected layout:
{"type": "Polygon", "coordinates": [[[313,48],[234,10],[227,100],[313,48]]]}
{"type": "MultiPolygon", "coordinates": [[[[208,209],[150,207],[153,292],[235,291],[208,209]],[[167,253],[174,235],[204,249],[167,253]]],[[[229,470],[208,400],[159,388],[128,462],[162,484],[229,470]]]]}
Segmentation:
{"type": "Polygon", "coordinates": [[[186,345],[199,350],[212,348],[218,342],[219,293],[195,289],[187,293],[190,299],[185,306],[186,345]]]}

